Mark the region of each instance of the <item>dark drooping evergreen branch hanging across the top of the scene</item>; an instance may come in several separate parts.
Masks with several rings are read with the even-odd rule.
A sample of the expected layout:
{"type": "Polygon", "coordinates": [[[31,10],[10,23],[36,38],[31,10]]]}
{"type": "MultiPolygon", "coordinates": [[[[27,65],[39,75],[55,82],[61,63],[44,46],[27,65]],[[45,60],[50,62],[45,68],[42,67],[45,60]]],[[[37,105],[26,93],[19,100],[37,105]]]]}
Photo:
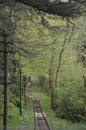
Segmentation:
{"type": "Polygon", "coordinates": [[[63,17],[76,17],[86,12],[85,0],[17,0],[45,13],[63,17]]]}

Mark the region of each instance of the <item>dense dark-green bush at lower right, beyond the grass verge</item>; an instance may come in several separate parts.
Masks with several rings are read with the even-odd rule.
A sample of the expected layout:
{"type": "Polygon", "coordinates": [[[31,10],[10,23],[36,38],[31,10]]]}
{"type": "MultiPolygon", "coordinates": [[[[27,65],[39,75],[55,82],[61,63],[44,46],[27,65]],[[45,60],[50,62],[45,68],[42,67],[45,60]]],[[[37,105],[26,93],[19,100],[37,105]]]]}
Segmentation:
{"type": "Polygon", "coordinates": [[[73,122],[86,121],[86,97],[83,87],[59,89],[56,98],[56,115],[73,122]]]}

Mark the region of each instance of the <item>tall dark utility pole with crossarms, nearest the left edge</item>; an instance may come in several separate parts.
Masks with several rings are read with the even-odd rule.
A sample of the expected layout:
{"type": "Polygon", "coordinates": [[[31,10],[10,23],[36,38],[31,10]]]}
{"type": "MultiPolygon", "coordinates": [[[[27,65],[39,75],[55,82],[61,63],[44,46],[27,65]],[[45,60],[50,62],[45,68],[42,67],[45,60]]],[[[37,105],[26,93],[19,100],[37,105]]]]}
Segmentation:
{"type": "Polygon", "coordinates": [[[4,35],[4,119],[3,130],[8,130],[8,43],[7,35],[4,35]]]}

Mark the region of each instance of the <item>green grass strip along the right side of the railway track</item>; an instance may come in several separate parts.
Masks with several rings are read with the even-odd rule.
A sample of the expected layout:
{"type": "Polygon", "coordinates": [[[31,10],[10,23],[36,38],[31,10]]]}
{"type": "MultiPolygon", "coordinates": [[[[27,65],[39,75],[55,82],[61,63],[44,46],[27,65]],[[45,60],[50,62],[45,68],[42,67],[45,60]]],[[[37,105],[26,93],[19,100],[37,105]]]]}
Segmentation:
{"type": "Polygon", "coordinates": [[[86,130],[86,124],[84,123],[76,124],[57,118],[55,111],[50,107],[50,97],[45,92],[42,93],[41,106],[52,130],[86,130]]]}

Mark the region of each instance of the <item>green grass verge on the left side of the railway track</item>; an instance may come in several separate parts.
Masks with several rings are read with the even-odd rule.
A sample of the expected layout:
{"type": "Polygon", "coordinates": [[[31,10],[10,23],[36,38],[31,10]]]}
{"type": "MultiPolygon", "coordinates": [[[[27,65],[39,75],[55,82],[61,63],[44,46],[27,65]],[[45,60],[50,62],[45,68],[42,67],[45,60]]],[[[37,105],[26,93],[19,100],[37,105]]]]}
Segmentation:
{"type": "Polygon", "coordinates": [[[23,105],[22,116],[19,116],[19,109],[16,111],[12,119],[9,120],[9,130],[18,130],[20,128],[34,129],[34,114],[31,100],[27,106],[23,105]]]}

